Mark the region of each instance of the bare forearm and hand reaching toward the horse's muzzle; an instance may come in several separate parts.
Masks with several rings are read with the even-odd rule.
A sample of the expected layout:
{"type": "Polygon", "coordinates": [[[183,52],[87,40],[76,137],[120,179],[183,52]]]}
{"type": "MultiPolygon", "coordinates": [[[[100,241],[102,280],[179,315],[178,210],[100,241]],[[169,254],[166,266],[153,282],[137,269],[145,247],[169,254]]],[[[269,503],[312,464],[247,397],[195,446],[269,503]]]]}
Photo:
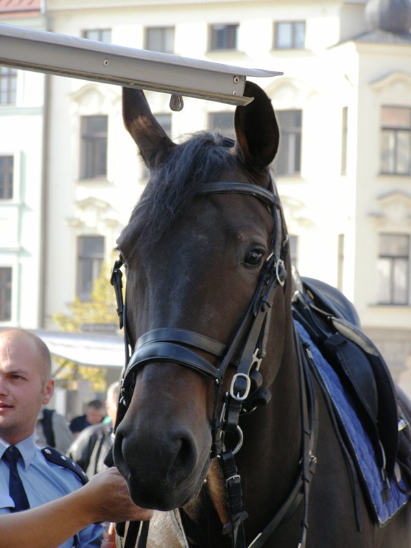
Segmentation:
{"type": "Polygon", "coordinates": [[[84,487],[61,499],[0,516],[0,548],[55,548],[80,530],[100,521],[148,520],[151,510],[138,508],[116,469],[105,470],[84,487]]]}

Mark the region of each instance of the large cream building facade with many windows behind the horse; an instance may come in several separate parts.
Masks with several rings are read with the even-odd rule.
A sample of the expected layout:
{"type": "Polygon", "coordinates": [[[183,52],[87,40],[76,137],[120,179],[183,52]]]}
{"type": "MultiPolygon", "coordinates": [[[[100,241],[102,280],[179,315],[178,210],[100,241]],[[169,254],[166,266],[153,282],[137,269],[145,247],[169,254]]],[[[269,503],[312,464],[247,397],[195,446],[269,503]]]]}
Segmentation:
{"type": "MultiPolygon", "coordinates": [[[[301,275],[338,286],[353,301],[411,395],[410,6],[48,0],[47,25],[90,40],[284,72],[256,82],[282,130],[273,173],[293,261],[301,275]]],[[[176,140],[217,127],[232,134],[234,108],[227,105],[185,98],[184,110],[172,112],[168,96],[147,98],[176,140]]],[[[66,311],[75,295],[88,299],[147,170],[123,128],[120,88],[51,77],[47,106],[45,238],[32,282],[44,306],[41,319],[25,323],[51,328],[53,314],[66,311]]],[[[0,141],[7,155],[4,147],[0,141]]],[[[16,277],[13,291],[14,283],[27,284],[16,277]]],[[[23,323],[13,310],[10,321],[23,323]]]]}

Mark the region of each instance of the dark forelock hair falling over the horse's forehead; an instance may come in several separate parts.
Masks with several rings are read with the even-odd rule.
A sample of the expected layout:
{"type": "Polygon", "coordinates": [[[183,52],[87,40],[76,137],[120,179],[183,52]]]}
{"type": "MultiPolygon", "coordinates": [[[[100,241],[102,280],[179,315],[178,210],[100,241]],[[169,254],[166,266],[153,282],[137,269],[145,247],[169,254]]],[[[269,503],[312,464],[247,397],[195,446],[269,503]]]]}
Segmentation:
{"type": "Polygon", "coordinates": [[[125,234],[147,249],[166,233],[208,182],[238,166],[230,153],[234,142],[214,132],[197,132],[175,145],[151,177],[136,204],[125,234]]]}

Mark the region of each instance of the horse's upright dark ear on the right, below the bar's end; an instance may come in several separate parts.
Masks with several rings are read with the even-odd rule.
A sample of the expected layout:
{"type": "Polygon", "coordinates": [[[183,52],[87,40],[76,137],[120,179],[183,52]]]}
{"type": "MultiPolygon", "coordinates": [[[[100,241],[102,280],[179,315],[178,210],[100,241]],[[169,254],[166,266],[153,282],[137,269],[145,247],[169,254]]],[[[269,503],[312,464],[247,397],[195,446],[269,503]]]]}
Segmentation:
{"type": "Polygon", "coordinates": [[[254,99],[248,105],[236,108],[236,155],[247,169],[261,171],[271,164],[277,153],[277,120],[269,97],[257,84],[246,82],[244,95],[254,99]]]}

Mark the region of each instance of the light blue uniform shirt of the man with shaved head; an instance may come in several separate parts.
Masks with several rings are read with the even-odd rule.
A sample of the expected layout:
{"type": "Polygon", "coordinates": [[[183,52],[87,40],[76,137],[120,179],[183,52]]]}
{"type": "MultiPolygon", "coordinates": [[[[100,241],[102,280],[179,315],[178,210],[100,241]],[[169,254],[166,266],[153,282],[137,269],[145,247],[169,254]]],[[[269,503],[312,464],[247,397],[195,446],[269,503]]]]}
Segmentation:
{"type": "MultiPolygon", "coordinates": [[[[10,507],[14,506],[8,490],[8,465],[1,460],[9,445],[0,438],[0,514],[8,514],[10,507]]],[[[18,443],[16,447],[23,457],[23,460],[18,460],[17,466],[30,508],[64,497],[82,486],[75,473],[46,460],[35,444],[35,434],[18,443]]],[[[102,532],[101,525],[89,525],[77,535],[77,547],[100,548],[102,532]]],[[[71,538],[59,548],[72,548],[73,545],[74,540],[71,538]]]]}

